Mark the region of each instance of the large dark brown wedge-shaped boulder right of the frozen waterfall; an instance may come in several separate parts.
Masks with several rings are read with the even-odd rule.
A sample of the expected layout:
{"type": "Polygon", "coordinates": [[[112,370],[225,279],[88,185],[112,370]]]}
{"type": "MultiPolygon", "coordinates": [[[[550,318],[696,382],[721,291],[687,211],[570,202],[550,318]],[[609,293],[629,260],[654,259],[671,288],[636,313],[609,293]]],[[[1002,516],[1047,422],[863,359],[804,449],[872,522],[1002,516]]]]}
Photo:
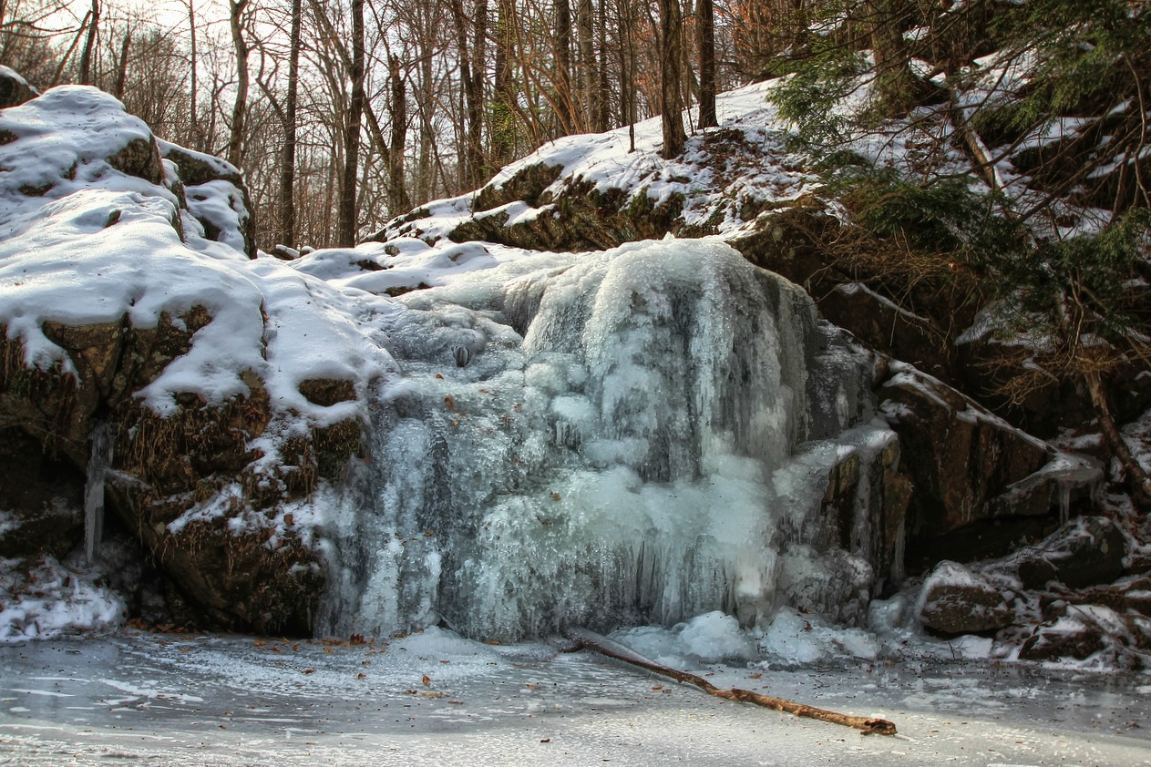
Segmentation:
{"type": "Polygon", "coordinates": [[[881,379],[881,412],[914,488],[909,568],[1004,554],[1050,532],[1102,482],[1096,462],[1058,453],[910,366],[892,363],[881,379]]]}

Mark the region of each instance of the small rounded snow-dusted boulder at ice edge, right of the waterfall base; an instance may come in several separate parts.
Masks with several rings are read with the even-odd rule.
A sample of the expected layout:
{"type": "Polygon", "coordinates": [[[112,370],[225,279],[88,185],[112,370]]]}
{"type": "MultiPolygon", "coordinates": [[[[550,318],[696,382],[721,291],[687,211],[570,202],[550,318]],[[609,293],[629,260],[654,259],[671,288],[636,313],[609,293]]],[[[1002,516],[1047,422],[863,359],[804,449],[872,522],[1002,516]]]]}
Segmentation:
{"type": "Polygon", "coordinates": [[[940,634],[996,631],[1014,619],[999,589],[956,562],[939,562],[923,583],[920,623],[940,634]]]}

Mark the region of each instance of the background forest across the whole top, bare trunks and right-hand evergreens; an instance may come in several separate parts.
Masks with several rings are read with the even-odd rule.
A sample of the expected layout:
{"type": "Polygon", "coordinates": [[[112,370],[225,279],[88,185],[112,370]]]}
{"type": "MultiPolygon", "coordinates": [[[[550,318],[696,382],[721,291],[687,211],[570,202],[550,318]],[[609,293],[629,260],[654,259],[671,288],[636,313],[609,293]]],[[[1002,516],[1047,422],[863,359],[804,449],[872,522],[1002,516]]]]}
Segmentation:
{"type": "Polygon", "coordinates": [[[998,193],[1003,163],[1030,152],[1023,175],[1050,193],[1013,212],[1027,222],[1075,195],[1148,207],[1146,7],[0,0],[0,62],[41,90],[96,85],[167,140],[243,168],[268,251],[353,245],[561,136],[663,114],[674,156],[685,125],[671,116],[699,107],[686,130],[715,125],[716,91],[785,74],[776,100],[813,156],[910,117],[923,179],[946,181],[930,156],[958,146],[998,193]],[[866,108],[843,109],[861,89],[866,108]]]}

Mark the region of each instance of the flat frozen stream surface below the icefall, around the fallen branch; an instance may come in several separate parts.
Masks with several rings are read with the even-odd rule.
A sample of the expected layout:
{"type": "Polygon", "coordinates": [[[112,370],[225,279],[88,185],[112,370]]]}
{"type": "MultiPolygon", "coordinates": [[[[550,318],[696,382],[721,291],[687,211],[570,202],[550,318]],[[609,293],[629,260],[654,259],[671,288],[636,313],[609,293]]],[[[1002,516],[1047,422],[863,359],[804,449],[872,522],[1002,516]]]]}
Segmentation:
{"type": "Polygon", "coordinates": [[[0,762],[1151,765],[1145,675],[971,661],[692,670],[900,734],[439,629],[386,646],[121,635],[0,647],[0,762]]]}

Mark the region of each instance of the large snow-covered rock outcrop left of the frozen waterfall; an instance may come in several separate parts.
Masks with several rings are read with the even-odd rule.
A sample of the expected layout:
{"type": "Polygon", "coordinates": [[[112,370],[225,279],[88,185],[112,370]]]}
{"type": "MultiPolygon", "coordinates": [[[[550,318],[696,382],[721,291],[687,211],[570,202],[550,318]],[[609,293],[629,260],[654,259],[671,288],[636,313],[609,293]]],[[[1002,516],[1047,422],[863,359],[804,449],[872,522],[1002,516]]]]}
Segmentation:
{"type": "Polygon", "coordinates": [[[326,570],[305,517],[360,452],[364,382],[267,360],[294,322],[342,325],[296,306],[317,299],[295,273],[242,274],[236,169],[161,145],[94,89],[6,98],[0,205],[21,236],[0,238],[0,557],[35,568],[83,540],[91,437],[110,424],[108,524],[185,616],[311,634],[326,570]]]}

